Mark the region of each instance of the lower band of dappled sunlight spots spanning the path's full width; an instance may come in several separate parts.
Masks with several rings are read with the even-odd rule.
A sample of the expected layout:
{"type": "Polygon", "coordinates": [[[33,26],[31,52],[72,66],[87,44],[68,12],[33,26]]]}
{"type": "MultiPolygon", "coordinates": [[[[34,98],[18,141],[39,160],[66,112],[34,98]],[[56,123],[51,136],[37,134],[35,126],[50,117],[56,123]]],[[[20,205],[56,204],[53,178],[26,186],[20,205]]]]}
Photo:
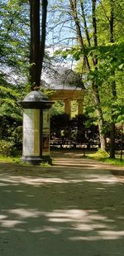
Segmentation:
{"type": "Polygon", "coordinates": [[[107,218],[98,210],[40,211],[17,208],[3,211],[6,215],[0,215],[0,226],[2,229],[5,228],[6,231],[8,229],[8,232],[10,228],[24,232],[30,222],[28,232],[32,234],[50,233],[60,235],[66,232],[66,239],[74,241],[122,239],[124,237],[124,229],[119,230],[115,220],[107,218]],[[33,219],[36,219],[36,221],[34,222],[33,219]]]}

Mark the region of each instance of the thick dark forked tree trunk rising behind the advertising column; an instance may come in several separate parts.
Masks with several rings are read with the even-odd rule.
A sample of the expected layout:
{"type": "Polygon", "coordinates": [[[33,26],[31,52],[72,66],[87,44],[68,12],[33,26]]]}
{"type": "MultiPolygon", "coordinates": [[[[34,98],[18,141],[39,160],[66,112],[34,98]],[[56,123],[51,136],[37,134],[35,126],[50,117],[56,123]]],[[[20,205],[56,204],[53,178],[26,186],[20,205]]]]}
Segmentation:
{"type": "Polygon", "coordinates": [[[30,0],[31,51],[30,82],[31,89],[40,89],[41,70],[45,54],[45,30],[47,0],[30,0]],[[41,15],[42,13],[42,15],[41,15]]]}

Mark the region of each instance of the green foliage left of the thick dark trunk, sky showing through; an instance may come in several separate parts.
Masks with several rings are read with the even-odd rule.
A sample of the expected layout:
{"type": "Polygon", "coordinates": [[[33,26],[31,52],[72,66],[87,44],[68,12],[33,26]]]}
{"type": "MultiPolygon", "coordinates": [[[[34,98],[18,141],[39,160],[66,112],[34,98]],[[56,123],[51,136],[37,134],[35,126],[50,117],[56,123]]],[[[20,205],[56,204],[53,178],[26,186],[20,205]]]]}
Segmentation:
{"type": "Polygon", "coordinates": [[[0,15],[0,118],[1,123],[7,123],[8,134],[12,124],[8,127],[5,119],[17,118],[18,122],[22,115],[17,102],[25,94],[24,77],[28,70],[29,5],[21,0],[1,1],[0,15]]]}

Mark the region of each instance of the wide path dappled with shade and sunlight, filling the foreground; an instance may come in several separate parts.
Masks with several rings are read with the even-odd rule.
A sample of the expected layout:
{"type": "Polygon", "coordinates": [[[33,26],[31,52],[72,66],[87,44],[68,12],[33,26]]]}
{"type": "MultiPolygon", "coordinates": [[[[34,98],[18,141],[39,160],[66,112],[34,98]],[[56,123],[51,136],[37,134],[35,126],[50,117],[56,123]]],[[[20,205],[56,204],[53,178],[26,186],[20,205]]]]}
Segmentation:
{"type": "Polygon", "coordinates": [[[123,256],[113,168],[69,152],[53,167],[0,163],[0,256],[123,256]]]}

